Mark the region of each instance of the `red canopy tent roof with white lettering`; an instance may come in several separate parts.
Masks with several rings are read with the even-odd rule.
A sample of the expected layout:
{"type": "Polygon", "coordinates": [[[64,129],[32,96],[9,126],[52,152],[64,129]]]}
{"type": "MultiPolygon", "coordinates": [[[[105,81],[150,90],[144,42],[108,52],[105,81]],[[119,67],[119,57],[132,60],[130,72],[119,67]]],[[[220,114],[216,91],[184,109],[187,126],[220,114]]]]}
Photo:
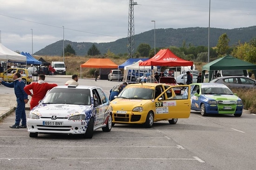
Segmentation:
{"type": "Polygon", "coordinates": [[[160,50],[154,57],[143,61],[140,66],[193,66],[193,61],[187,61],[177,57],[169,49],[160,50]]]}

